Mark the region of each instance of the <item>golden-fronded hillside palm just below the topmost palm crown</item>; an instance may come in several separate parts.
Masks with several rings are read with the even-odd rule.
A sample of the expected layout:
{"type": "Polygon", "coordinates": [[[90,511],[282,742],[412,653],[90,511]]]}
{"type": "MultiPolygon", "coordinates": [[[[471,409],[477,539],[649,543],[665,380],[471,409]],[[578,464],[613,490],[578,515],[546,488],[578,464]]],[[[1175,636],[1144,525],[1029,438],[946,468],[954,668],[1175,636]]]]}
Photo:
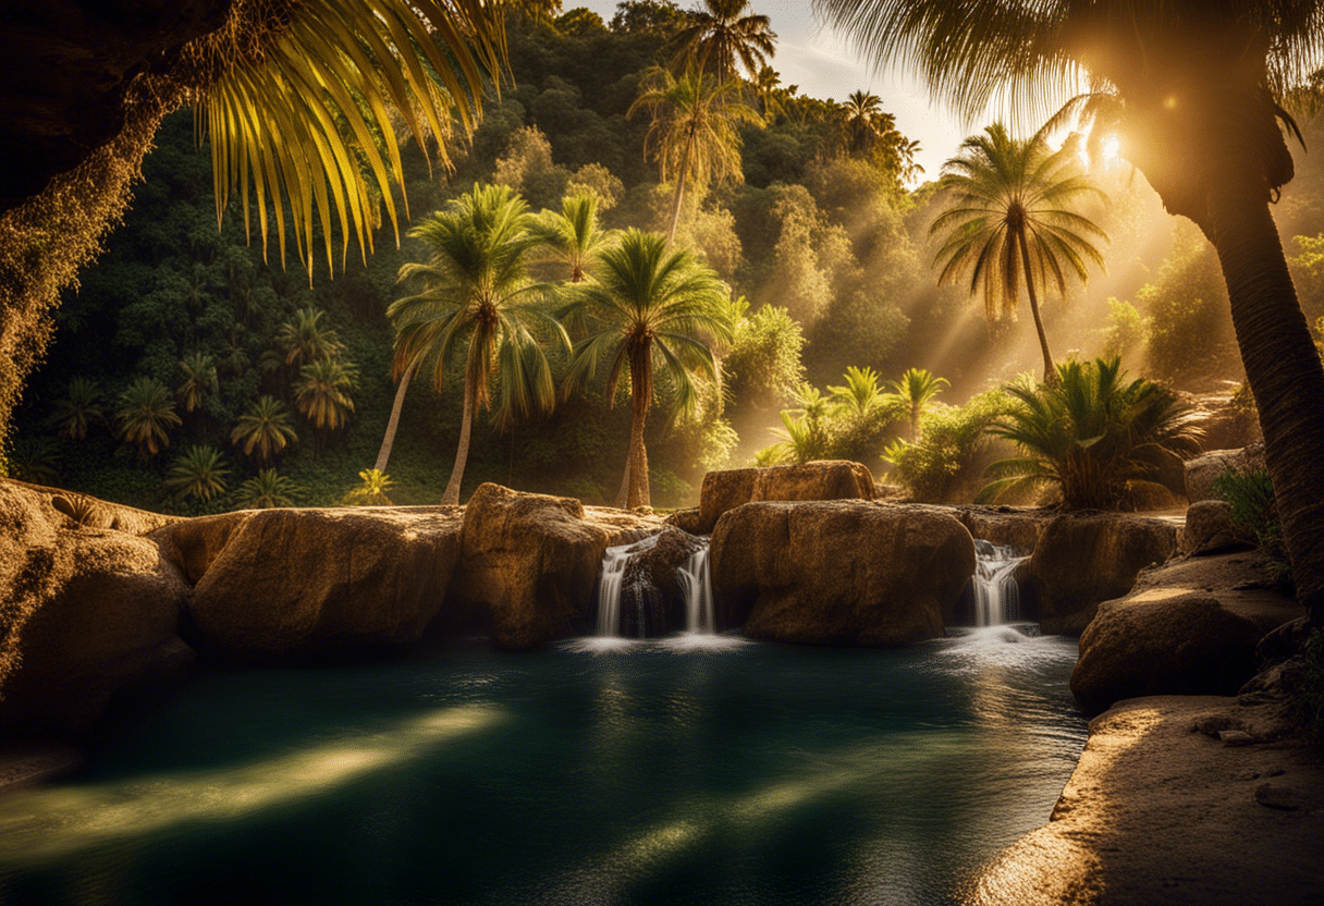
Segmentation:
{"type": "Polygon", "coordinates": [[[703,192],[710,181],[743,179],[737,127],[759,122],[759,114],[740,98],[733,79],[719,81],[692,68],[678,78],[661,66],[643,77],[626,115],[637,110],[653,117],[645,150],[658,162],[662,181],[675,184],[667,230],[667,240],[674,240],[686,183],[703,192]]]}

